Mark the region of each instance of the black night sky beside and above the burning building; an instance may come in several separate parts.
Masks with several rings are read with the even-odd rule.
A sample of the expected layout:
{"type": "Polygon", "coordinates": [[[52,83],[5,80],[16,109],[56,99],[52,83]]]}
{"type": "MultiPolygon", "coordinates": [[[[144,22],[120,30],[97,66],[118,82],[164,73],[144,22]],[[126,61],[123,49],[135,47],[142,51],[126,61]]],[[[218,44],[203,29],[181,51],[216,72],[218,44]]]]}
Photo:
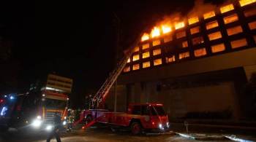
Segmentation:
{"type": "Polygon", "coordinates": [[[184,0],[1,1],[0,36],[11,42],[11,53],[0,73],[15,83],[8,90],[1,87],[0,93],[10,88],[22,92],[34,79],[55,71],[74,79],[71,99],[78,107],[113,69],[117,31],[120,51],[146,25],[192,7],[193,1],[184,0]]]}

